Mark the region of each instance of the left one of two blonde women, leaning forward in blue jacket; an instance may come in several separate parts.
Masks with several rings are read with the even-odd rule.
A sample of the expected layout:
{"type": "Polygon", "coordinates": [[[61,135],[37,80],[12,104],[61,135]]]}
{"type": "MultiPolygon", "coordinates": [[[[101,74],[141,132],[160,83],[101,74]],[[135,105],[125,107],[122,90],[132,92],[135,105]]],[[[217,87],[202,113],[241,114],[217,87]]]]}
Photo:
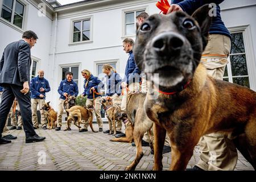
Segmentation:
{"type": "MultiPolygon", "coordinates": [[[[104,84],[98,79],[98,77],[93,76],[90,71],[84,69],[81,71],[82,77],[84,80],[84,92],[82,96],[87,96],[86,106],[93,105],[95,110],[95,115],[98,123],[98,131],[103,131],[103,122],[101,119],[101,93],[100,90],[104,86],[104,84]],[[94,102],[94,104],[93,104],[94,102]]],[[[84,125],[84,127],[79,132],[88,131],[88,123],[84,125]]]]}

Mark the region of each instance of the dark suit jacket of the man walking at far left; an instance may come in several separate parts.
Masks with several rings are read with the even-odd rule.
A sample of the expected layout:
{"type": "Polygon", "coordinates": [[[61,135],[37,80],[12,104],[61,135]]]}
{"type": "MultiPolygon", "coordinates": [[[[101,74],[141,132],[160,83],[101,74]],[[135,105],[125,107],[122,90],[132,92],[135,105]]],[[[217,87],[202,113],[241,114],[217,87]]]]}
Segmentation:
{"type": "Polygon", "coordinates": [[[23,86],[30,82],[30,45],[24,40],[10,43],[3,51],[0,61],[0,86],[14,84],[23,86]]]}

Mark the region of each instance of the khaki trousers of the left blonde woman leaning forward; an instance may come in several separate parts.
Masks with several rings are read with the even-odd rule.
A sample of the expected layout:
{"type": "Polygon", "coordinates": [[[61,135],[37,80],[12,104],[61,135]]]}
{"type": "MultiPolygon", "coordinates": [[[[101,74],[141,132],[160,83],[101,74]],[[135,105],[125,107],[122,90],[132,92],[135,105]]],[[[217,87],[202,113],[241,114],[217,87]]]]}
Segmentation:
{"type": "MultiPolygon", "coordinates": [[[[86,99],[86,103],[85,105],[88,106],[88,105],[93,105],[93,101],[95,103],[95,108],[94,108],[94,111],[95,111],[95,115],[96,115],[96,119],[97,119],[97,123],[98,123],[98,127],[100,129],[103,128],[103,122],[102,122],[102,119],[101,119],[101,97],[96,97],[94,99],[89,99],[87,98],[86,99]]],[[[84,129],[87,129],[88,128],[88,121],[85,121],[85,125],[84,125],[84,129]]]]}

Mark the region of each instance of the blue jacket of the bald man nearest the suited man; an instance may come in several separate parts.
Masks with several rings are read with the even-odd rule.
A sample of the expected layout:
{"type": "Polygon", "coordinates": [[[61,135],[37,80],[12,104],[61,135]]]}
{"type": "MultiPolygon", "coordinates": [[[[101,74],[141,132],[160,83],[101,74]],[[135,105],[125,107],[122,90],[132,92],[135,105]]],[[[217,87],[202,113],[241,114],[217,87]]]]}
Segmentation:
{"type": "Polygon", "coordinates": [[[40,78],[39,76],[32,78],[30,81],[30,97],[36,99],[45,99],[46,92],[49,92],[51,88],[49,87],[49,82],[46,78],[40,78]],[[44,88],[44,92],[40,92],[40,88],[44,88]],[[40,98],[40,94],[44,95],[44,98],[40,98]]]}

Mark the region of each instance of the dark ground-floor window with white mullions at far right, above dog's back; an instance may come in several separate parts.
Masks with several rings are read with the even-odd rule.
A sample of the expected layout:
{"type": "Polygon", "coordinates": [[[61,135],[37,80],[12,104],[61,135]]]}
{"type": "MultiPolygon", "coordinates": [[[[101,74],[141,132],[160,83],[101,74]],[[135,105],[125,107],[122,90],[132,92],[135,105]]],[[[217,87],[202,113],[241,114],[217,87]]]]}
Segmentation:
{"type": "Polygon", "coordinates": [[[230,63],[225,68],[224,80],[250,88],[243,32],[236,32],[231,35],[232,46],[229,56],[230,63]]]}

